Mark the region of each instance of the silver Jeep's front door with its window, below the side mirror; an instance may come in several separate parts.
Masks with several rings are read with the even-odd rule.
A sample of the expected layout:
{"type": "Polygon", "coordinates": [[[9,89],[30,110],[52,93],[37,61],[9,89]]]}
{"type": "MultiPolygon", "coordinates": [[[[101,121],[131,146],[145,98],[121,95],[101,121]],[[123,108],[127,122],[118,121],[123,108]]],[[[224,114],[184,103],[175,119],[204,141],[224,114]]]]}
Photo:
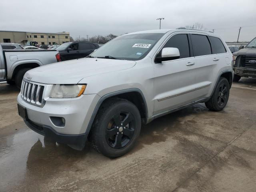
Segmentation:
{"type": "Polygon", "coordinates": [[[180,58],[154,64],[154,114],[196,100],[196,63],[188,34],[172,35],[165,47],[178,48],[180,58]]]}

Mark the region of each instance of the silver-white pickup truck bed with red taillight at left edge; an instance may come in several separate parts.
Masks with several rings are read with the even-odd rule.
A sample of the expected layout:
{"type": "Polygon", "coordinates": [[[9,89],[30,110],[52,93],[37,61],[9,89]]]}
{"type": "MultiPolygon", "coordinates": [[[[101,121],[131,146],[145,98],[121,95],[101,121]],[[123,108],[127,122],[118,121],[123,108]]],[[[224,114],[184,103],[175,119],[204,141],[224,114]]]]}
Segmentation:
{"type": "Polygon", "coordinates": [[[28,70],[59,61],[56,50],[3,50],[0,45],[0,84],[16,84],[20,88],[28,70]]]}

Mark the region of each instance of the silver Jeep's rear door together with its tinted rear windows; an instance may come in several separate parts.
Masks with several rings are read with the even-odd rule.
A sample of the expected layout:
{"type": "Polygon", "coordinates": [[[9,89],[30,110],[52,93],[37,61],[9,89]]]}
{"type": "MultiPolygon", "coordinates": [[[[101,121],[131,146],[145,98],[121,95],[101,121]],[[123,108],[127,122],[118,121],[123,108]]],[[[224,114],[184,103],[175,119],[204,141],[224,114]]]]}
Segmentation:
{"type": "Polygon", "coordinates": [[[196,93],[200,98],[208,97],[215,85],[220,64],[226,63],[225,54],[222,53],[226,53],[226,49],[219,38],[205,34],[192,33],[191,41],[197,64],[196,93]]]}

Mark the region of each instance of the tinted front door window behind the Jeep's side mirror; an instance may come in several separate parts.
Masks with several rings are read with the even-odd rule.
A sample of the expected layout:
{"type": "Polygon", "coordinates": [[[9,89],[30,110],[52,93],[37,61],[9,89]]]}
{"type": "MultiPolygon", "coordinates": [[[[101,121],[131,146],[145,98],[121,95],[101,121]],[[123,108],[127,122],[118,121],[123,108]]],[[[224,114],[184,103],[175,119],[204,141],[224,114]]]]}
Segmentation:
{"type": "Polygon", "coordinates": [[[178,34],[172,36],[164,45],[164,48],[165,47],[178,48],[180,51],[180,58],[190,57],[187,34],[178,34]]]}

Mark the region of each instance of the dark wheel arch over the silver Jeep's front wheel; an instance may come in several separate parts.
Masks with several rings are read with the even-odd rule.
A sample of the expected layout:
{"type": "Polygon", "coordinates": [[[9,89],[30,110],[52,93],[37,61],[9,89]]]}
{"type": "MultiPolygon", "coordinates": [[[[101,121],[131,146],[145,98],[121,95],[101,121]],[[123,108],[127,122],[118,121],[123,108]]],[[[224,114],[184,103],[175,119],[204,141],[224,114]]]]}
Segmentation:
{"type": "Polygon", "coordinates": [[[94,122],[94,119],[96,117],[96,114],[98,113],[98,110],[100,109],[100,106],[110,98],[123,98],[130,102],[132,102],[140,111],[140,115],[142,117],[142,122],[146,123],[146,120],[148,119],[148,107],[146,104],[145,97],[141,90],[138,88],[131,88],[126,90],[120,90],[116,92],[112,92],[109,94],[106,94],[100,98],[98,103],[96,104],[96,107],[94,108],[94,111],[92,113],[92,116],[90,118],[89,124],[86,128],[86,133],[90,132],[90,129],[92,127],[92,124],[94,122]]]}

